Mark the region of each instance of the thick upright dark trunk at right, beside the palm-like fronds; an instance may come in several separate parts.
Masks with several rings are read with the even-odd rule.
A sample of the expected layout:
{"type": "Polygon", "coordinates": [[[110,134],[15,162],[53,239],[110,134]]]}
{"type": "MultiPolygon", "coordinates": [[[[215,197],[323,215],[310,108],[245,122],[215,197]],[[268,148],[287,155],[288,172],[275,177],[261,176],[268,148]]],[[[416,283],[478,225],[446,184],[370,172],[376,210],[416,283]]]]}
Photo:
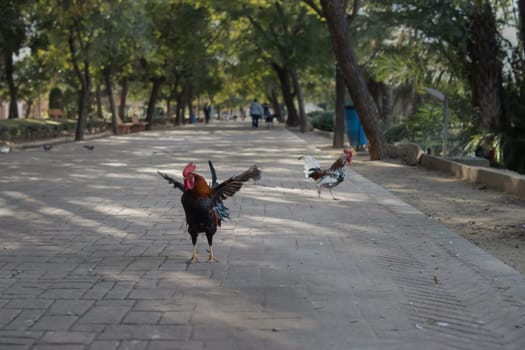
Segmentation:
{"type": "Polygon", "coordinates": [[[468,47],[474,104],[479,107],[481,126],[497,133],[501,130],[503,119],[503,78],[496,19],[488,1],[477,8],[472,18],[468,47]]]}

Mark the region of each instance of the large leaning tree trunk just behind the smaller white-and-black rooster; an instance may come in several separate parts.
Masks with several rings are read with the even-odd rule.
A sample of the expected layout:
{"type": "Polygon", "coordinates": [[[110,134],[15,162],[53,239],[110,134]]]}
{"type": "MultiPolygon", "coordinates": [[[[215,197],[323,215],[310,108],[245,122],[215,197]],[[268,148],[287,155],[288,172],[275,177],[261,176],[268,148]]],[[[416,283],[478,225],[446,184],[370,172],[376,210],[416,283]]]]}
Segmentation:
{"type": "Polygon", "coordinates": [[[368,139],[370,159],[380,160],[387,156],[386,140],[379,127],[376,103],[368,91],[352,48],[345,4],[346,1],[321,0],[335,57],[368,139]]]}

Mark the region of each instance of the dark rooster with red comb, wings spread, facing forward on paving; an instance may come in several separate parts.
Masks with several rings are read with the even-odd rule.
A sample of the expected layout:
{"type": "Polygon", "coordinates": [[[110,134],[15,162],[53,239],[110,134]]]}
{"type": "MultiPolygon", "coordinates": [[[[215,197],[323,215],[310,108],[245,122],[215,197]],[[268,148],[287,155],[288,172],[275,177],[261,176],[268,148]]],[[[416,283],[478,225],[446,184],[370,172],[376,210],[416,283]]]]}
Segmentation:
{"type": "Polygon", "coordinates": [[[193,172],[196,168],[193,163],[189,163],[182,171],[184,183],[158,172],[170,184],[173,184],[174,187],[183,192],[181,203],[186,214],[188,233],[193,244],[192,262],[198,261],[196,244],[199,233],[206,234],[208,239],[208,261],[217,260],[213,255],[213,236],[217,232],[217,227],[221,225],[222,220],[230,217],[228,208],[224,206],[222,201],[239,191],[244,182],[250,179],[258,180],[261,177],[260,170],[256,165],[252,165],[240,175],[233,176],[219,184],[217,183],[213,164],[211,161],[208,163],[212,174],[211,185],[208,185],[204,177],[193,172]]]}

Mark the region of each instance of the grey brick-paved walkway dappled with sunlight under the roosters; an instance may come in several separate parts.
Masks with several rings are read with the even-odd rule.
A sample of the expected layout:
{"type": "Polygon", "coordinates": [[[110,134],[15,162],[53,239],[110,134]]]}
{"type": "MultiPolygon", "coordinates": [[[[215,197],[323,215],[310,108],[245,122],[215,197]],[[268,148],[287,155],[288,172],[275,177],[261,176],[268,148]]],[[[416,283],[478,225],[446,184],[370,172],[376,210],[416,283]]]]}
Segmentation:
{"type": "Polygon", "coordinates": [[[317,198],[297,157],[332,152],[247,125],[0,155],[0,349],[525,348],[524,276],[351,170],[317,198]],[[208,159],[263,179],[187,265],[156,171],[208,159]]]}

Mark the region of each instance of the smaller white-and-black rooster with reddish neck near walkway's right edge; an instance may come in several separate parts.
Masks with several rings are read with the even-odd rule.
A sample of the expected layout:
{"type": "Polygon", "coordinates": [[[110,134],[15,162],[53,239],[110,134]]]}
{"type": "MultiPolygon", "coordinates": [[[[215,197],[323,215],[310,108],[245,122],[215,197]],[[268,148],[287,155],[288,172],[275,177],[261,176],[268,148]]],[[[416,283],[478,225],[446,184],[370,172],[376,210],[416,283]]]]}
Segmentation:
{"type": "Polygon", "coordinates": [[[344,153],[328,169],[321,166],[312,156],[304,156],[304,174],[317,182],[317,194],[321,196],[321,188],[327,188],[334,199],[332,188],[339,185],[346,177],[346,164],[352,161],[352,151],[344,150],[344,153]]]}

